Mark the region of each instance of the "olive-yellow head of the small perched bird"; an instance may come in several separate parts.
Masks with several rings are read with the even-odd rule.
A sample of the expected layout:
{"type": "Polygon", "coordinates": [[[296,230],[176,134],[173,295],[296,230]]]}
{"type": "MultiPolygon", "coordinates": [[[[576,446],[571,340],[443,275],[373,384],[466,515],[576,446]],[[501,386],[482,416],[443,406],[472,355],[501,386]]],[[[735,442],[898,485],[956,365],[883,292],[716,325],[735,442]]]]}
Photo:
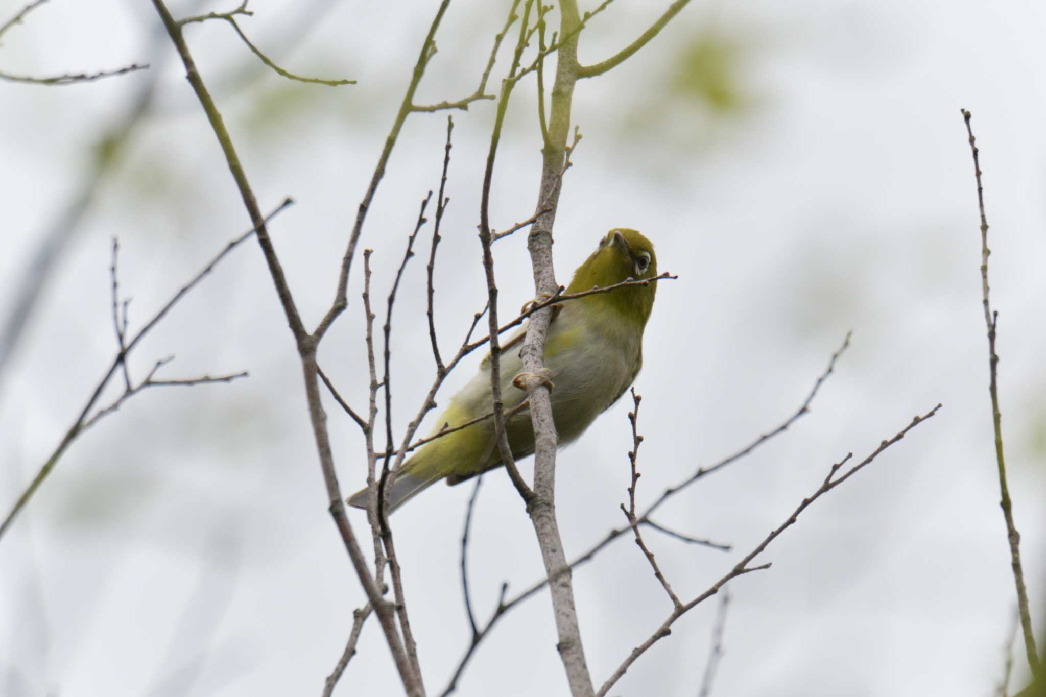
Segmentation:
{"type": "MultiPolygon", "coordinates": [[[[640,280],[655,276],[657,255],[651,240],[635,230],[615,228],[599,239],[599,246],[574,272],[567,293],[613,285],[629,278],[640,280]]],[[[656,292],[657,283],[627,285],[574,302],[589,303],[594,308],[619,313],[623,319],[636,321],[641,330],[654,307],[656,292]]]]}

